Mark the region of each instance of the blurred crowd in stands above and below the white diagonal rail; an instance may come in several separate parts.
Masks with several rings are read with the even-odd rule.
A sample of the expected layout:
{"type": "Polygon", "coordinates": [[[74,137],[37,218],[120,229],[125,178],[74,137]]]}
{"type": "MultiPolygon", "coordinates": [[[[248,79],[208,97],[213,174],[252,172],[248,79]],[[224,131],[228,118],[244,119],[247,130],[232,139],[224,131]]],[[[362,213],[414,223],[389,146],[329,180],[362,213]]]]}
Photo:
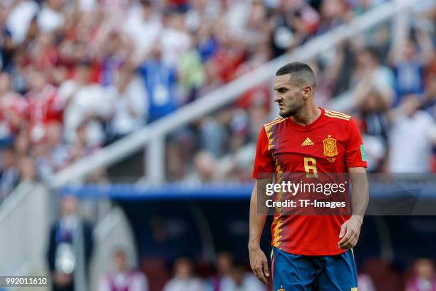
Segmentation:
{"type": "MultiPolygon", "coordinates": [[[[385,1],[0,1],[0,200],[385,1]]],[[[383,24],[311,60],[318,104],[346,95],[370,170],[431,170],[435,5],[426,3],[402,43],[383,24]]],[[[249,179],[253,151],[240,149],[272,108],[271,84],[254,85],[167,139],[168,180],[249,179]],[[237,158],[213,166],[227,154],[237,158]]],[[[105,181],[105,170],[89,180],[105,181]]]]}

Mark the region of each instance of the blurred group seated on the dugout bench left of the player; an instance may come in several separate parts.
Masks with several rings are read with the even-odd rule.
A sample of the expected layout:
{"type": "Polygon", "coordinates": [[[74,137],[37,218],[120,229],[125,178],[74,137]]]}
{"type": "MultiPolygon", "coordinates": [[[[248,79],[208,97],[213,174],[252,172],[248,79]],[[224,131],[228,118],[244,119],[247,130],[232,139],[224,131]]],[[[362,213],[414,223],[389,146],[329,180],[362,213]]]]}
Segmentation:
{"type": "Polygon", "coordinates": [[[157,277],[147,277],[128,267],[126,252],[115,250],[113,270],[100,280],[98,291],[266,291],[267,287],[249,272],[246,265],[235,262],[229,252],[219,252],[213,275],[197,275],[198,265],[190,257],[179,257],[172,264],[172,276],[165,280],[163,272],[157,277]],[[161,280],[162,279],[162,280],[161,280]]]}

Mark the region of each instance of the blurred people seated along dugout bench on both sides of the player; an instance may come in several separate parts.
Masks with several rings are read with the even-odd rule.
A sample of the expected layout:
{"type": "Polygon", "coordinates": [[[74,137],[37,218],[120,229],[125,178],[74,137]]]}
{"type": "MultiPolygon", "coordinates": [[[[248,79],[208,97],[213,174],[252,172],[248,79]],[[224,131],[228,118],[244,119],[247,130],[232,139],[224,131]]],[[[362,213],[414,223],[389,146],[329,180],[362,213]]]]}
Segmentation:
{"type": "MultiPolygon", "coordinates": [[[[359,290],[405,290],[432,291],[436,289],[435,262],[419,258],[410,268],[403,272],[403,277],[393,274],[393,268],[378,260],[383,270],[374,271],[372,275],[360,272],[359,290]],[[384,276],[384,279],[380,280],[384,276]],[[374,279],[373,279],[374,277],[374,279]],[[384,280],[384,282],[383,282],[384,280]]],[[[165,275],[147,277],[147,270],[142,272],[128,266],[125,250],[113,252],[113,270],[100,280],[98,291],[266,291],[271,286],[263,285],[249,271],[246,265],[235,262],[230,252],[219,252],[214,261],[213,275],[198,275],[201,264],[189,257],[179,257],[172,264],[172,276],[165,280],[165,275]],[[162,280],[161,280],[162,279],[162,280]]],[[[163,272],[165,273],[165,271],[163,272]]],[[[149,275],[155,275],[150,274],[149,275]]],[[[401,275],[400,275],[401,276],[401,275]]]]}

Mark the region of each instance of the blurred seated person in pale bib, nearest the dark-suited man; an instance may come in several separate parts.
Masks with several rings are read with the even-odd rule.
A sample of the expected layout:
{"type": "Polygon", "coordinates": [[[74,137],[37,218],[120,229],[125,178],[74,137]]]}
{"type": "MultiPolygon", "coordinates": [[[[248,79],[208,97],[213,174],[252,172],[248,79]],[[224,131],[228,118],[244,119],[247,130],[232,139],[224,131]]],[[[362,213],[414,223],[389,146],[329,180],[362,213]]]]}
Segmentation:
{"type": "Polygon", "coordinates": [[[98,287],[98,291],[147,291],[147,277],[128,267],[124,250],[113,253],[115,270],[107,275],[98,287]]]}

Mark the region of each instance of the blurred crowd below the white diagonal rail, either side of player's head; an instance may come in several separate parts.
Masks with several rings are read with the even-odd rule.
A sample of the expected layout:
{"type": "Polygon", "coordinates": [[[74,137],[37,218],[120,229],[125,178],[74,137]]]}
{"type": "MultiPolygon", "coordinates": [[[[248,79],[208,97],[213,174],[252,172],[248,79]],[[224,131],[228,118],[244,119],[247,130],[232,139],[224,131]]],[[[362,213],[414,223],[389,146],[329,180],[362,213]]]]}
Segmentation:
{"type": "MultiPolygon", "coordinates": [[[[369,172],[436,173],[436,5],[416,13],[403,37],[393,38],[394,24],[383,23],[308,61],[318,106],[358,123],[369,172]]],[[[268,88],[254,88],[205,118],[185,180],[251,181],[256,138],[269,112],[256,102],[272,98],[268,88]]]]}

